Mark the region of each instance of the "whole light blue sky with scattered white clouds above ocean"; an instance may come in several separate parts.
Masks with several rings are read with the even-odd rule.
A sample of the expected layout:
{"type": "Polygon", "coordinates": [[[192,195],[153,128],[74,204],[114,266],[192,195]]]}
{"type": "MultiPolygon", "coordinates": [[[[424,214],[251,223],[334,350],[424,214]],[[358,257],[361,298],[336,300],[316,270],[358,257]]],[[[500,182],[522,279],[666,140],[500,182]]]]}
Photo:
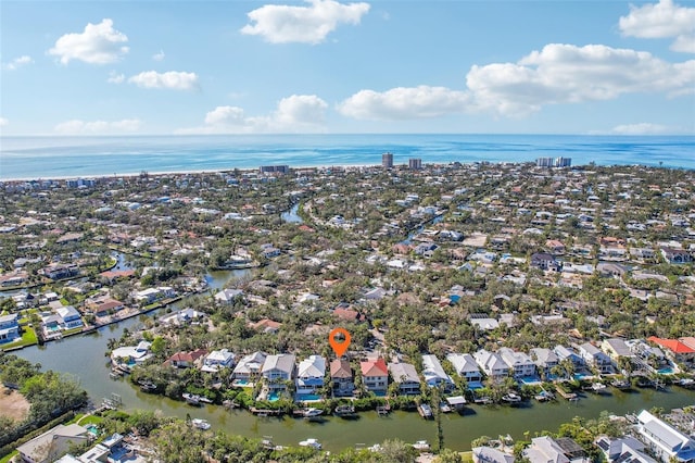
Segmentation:
{"type": "Polygon", "coordinates": [[[0,3],[2,135],[695,134],[695,2],[0,3]]]}

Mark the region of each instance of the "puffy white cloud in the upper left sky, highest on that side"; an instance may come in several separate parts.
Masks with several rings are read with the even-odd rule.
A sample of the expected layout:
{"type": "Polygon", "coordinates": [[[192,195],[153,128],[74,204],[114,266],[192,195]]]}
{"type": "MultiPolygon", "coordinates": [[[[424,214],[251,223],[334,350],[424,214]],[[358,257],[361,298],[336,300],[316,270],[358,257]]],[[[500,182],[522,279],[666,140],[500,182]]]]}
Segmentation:
{"type": "Polygon", "coordinates": [[[99,24],[88,23],[81,34],[65,34],[55,41],[48,53],[60,57],[63,64],[79,60],[90,64],[106,64],[118,61],[128,52],[124,46],[128,37],[113,28],[113,21],[105,18],[99,24]]]}

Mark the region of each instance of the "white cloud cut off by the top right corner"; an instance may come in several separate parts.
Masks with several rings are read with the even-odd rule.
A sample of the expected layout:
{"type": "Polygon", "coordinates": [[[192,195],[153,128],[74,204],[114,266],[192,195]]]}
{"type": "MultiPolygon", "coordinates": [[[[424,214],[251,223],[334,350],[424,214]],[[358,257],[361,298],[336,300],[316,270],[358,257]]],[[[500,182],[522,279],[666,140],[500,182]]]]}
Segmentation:
{"type": "Polygon", "coordinates": [[[671,50],[695,53],[695,8],[679,7],[672,0],[630,5],[630,14],[621,16],[618,26],[629,37],[675,37],[671,50]]]}

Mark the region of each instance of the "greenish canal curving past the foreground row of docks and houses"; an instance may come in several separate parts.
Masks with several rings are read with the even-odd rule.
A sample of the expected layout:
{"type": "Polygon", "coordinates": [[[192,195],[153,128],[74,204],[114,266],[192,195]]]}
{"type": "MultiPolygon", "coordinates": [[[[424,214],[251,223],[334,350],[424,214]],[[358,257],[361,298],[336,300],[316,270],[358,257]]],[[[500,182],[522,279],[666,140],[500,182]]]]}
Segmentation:
{"type": "MultiPolygon", "coordinates": [[[[296,445],[308,437],[319,439],[327,450],[340,450],[356,445],[371,446],[384,439],[399,438],[406,442],[427,439],[437,441],[437,426],[424,421],[415,412],[394,412],[379,417],[376,412],[365,412],[356,421],[327,417],[324,423],[312,423],[291,417],[256,417],[244,411],[228,411],[223,406],[205,405],[191,408],[178,402],[141,392],[125,379],[109,377],[109,359],[104,355],[110,338],[118,338],[124,328],[137,329],[141,318],[131,318],[118,326],[103,327],[90,335],[71,337],[50,342],[43,347],[31,347],[15,353],[30,362],[38,362],[43,370],[53,370],[75,375],[94,402],[117,393],[125,410],[161,410],[165,415],[201,417],[207,420],[213,429],[245,437],[273,436],[277,445],[296,445]]],[[[496,438],[511,435],[521,438],[526,431],[557,430],[561,423],[574,416],[598,417],[601,412],[616,414],[639,412],[642,409],[661,406],[666,410],[695,403],[695,391],[671,387],[666,391],[643,389],[633,392],[612,391],[609,395],[587,395],[578,402],[559,400],[552,403],[531,402],[521,408],[467,405],[466,414],[446,414],[443,428],[446,447],[469,450],[470,442],[480,436],[496,438]]]]}

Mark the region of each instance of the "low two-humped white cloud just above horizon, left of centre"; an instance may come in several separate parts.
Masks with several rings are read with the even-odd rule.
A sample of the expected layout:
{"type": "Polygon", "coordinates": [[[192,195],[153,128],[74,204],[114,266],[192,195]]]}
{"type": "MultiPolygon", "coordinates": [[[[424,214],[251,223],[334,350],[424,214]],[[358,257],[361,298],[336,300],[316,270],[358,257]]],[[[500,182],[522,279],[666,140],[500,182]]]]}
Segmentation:
{"type": "Polygon", "coordinates": [[[239,107],[217,107],[205,115],[202,127],[179,134],[273,134],[324,132],[328,104],[315,95],[292,95],[278,102],[267,116],[248,116],[239,107]]]}

